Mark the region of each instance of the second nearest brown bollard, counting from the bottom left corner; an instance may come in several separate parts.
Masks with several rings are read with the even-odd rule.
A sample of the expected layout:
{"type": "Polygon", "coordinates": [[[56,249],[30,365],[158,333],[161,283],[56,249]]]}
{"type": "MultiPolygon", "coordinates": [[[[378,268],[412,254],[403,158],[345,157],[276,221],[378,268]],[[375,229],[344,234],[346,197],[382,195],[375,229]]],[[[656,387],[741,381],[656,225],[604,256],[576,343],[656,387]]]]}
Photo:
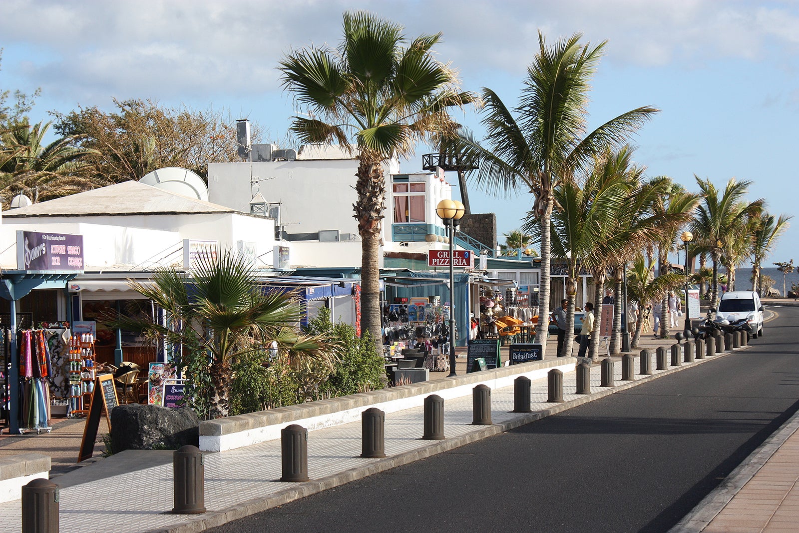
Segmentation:
{"type": "Polygon", "coordinates": [[[172,455],[172,512],[199,515],[205,512],[205,459],[197,446],[187,444],[172,455]]]}

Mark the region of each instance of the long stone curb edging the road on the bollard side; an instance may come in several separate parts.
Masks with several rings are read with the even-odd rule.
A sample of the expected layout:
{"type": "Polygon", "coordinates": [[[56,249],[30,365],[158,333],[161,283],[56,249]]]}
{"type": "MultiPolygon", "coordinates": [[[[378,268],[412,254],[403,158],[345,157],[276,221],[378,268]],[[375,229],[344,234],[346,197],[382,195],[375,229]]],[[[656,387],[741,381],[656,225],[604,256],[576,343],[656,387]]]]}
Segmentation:
{"type": "MultiPolygon", "coordinates": [[[[741,348],[737,348],[733,351],[718,353],[710,358],[694,360],[694,364],[682,364],[681,366],[669,368],[668,370],[659,372],[658,374],[646,376],[636,374],[636,380],[614,385],[614,387],[604,387],[598,392],[591,392],[590,395],[586,395],[582,398],[568,400],[553,405],[551,408],[544,409],[543,411],[518,416],[513,420],[507,420],[499,424],[492,424],[491,426],[486,426],[485,428],[471,432],[468,435],[446,440],[431,441],[430,445],[419,450],[407,451],[400,455],[386,457],[385,459],[378,459],[376,462],[365,465],[364,467],[355,467],[335,475],[328,475],[324,478],[298,483],[296,487],[286,488],[272,495],[250,499],[244,503],[226,507],[225,509],[221,509],[219,511],[208,512],[202,519],[190,523],[177,523],[173,526],[159,527],[146,531],[146,533],[198,533],[199,531],[205,531],[211,527],[218,527],[224,525],[225,523],[232,522],[233,520],[254,515],[262,511],[267,511],[268,509],[284,505],[285,503],[292,502],[296,499],[316,494],[318,492],[327,490],[328,488],[339,487],[340,485],[355,481],[356,479],[362,479],[368,475],[387,471],[394,467],[400,467],[408,463],[413,463],[419,459],[425,459],[427,457],[431,457],[432,455],[438,455],[439,453],[455,449],[456,447],[471,444],[477,440],[483,440],[490,436],[508,432],[511,429],[519,428],[525,424],[530,424],[531,422],[541,420],[547,416],[555,415],[570,408],[575,408],[578,405],[587,404],[590,401],[598,400],[599,398],[603,398],[605,396],[610,396],[616,392],[625,391],[626,389],[635,387],[638,384],[643,384],[648,381],[658,379],[662,376],[668,376],[674,372],[685,370],[686,368],[694,368],[694,366],[697,364],[718,360],[721,359],[721,357],[728,356],[734,352],[741,352],[741,350],[745,350],[748,347],[748,345],[742,346],[741,348]]],[[[797,415],[797,421],[799,421],[799,415],[797,415]]],[[[731,497],[732,496],[730,496],[730,498],[731,497]]]]}

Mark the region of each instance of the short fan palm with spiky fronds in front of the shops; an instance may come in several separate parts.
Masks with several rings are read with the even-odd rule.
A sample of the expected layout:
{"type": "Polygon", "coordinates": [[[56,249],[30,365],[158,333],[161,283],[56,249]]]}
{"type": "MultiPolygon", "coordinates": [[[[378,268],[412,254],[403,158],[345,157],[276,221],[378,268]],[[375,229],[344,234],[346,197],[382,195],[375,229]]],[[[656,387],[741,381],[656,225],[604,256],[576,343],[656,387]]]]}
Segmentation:
{"type": "Polygon", "coordinates": [[[276,341],[284,359],[296,368],[304,360],[332,360],[336,344],[324,336],[305,336],[295,324],[302,308],[295,296],[266,292],[248,259],[229,251],[207,250],[188,273],[175,268],[155,272],[152,284],[131,282],[165,312],[165,321],[118,316],[115,327],[177,347],[174,359],[194,369],[189,380],[207,389],[209,416],[227,416],[233,379],[231,363],[263,352],[276,341]],[[181,353],[182,352],[182,353],[181,353]]]}

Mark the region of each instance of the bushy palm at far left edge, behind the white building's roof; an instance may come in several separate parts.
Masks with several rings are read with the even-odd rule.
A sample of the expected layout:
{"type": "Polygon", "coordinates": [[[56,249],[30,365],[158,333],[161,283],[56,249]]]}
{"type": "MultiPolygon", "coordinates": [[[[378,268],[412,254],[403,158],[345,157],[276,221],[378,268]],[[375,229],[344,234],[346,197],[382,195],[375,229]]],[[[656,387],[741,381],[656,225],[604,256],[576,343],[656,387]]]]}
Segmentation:
{"type": "Polygon", "coordinates": [[[76,148],[80,136],[61,137],[44,145],[51,122],[13,125],[2,135],[0,144],[8,153],[0,157],[0,194],[10,201],[19,193],[40,199],[80,193],[97,186],[89,177],[84,158],[93,149],[76,148]]]}

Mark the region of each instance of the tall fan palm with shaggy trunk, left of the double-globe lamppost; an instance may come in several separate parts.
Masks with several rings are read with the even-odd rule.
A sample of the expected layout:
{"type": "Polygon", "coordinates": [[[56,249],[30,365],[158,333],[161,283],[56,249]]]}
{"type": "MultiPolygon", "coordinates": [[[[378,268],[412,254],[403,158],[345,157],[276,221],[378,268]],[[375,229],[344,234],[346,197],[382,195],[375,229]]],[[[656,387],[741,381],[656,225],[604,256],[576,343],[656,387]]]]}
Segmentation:
{"type": "Polygon", "coordinates": [[[292,133],[301,142],[336,141],[359,154],[353,207],[362,245],[362,320],[378,345],[382,161],[407,156],[415,141],[431,133],[455,130],[447,109],[476,100],[473,93],[459,92],[456,73],[435,59],[432,47],[441,34],[422,35],[403,46],[402,32],[403,26],[367,12],[347,12],[338,49],[295,50],[279,67],[282,86],[310,116],[294,117],[292,133]]]}

